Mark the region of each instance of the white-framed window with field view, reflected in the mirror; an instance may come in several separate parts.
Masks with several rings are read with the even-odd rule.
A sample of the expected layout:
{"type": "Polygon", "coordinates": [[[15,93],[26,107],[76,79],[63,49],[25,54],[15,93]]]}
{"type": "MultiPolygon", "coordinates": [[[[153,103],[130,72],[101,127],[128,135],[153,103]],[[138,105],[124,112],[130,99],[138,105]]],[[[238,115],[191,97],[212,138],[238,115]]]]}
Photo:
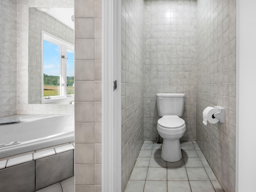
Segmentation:
{"type": "Polygon", "coordinates": [[[42,31],[42,102],[74,96],[74,45],[42,31]]]}

